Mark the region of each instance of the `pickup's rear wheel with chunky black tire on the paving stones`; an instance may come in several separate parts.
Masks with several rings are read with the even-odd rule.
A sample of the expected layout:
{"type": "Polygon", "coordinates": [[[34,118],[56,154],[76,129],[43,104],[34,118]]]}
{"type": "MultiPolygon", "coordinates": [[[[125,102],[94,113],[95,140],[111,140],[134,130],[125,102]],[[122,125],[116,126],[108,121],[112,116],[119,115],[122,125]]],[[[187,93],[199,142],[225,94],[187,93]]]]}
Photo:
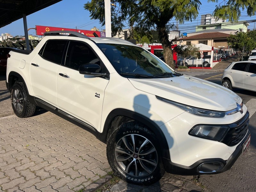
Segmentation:
{"type": "Polygon", "coordinates": [[[23,83],[15,83],[11,89],[12,109],[20,118],[33,116],[36,106],[29,102],[28,94],[23,83]]]}

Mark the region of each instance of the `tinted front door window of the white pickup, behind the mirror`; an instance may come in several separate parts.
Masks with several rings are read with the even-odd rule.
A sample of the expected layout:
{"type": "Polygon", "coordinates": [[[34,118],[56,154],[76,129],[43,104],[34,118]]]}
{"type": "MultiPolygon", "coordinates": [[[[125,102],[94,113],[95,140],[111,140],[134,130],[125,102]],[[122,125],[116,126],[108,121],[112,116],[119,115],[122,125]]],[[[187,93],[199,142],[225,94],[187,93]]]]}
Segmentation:
{"type": "Polygon", "coordinates": [[[100,65],[100,60],[86,44],[71,41],[68,45],[65,66],[78,70],[80,65],[86,63],[100,65]]]}

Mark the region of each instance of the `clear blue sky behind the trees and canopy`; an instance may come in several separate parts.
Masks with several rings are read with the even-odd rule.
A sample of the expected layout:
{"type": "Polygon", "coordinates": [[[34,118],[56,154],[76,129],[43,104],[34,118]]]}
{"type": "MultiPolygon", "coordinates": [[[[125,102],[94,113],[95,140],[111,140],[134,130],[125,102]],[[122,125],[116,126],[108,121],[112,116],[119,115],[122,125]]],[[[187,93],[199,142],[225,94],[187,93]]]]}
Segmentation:
{"type": "MultiPolygon", "coordinates": [[[[90,30],[94,26],[101,29],[98,20],[91,20],[90,13],[84,10],[84,4],[87,0],[63,0],[57,4],[47,7],[41,11],[27,16],[28,28],[34,28],[36,25],[62,27],[62,28],[76,28],[90,30]]],[[[212,13],[215,9],[216,3],[207,3],[207,0],[201,0],[201,7],[196,20],[185,22],[179,25],[181,32],[192,32],[195,26],[200,24],[201,14],[212,13]]],[[[104,14],[104,13],[103,13],[104,14]]],[[[246,10],[242,11],[240,20],[253,20],[256,16],[248,17],[246,10]]],[[[256,25],[256,24],[255,24],[256,25]]],[[[250,23],[250,29],[254,28],[254,23],[250,23]]],[[[17,20],[11,24],[0,28],[0,34],[10,33],[12,36],[24,35],[23,20],[17,20]]],[[[29,30],[29,34],[35,35],[34,29],[29,30]]]]}

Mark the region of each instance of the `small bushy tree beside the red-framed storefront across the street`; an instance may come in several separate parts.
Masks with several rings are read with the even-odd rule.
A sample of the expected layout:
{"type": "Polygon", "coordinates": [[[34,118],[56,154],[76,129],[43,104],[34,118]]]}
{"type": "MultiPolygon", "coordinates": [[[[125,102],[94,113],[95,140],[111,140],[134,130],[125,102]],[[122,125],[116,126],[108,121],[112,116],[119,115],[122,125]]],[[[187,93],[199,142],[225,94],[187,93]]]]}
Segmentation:
{"type": "Polygon", "coordinates": [[[177,52],[183,58],[183,65],[185,66],[185,60],[188,56],[196,56],[199,54],[199,47],[195,44],[190,45],[177,45],[173,48],[175,52],[177,52]]]}

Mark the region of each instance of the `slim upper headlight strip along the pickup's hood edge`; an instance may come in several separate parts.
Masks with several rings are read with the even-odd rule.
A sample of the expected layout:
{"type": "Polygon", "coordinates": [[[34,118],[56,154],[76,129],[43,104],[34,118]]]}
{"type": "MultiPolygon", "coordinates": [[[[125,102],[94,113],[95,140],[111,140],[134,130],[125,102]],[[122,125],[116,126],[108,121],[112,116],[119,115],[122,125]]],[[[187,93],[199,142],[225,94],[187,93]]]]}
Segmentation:
{"type": "Polygon", "coordinates": [[[207,109],[195,108],[195,107],[177,103],[177,102],[174,102],[174,101],[171,101],[168,99],[164,99],[162,97],[156,96],[156,98],[161,101],[164,101],[166,103],[169,103],[171,105],[174,105],[178,108],[181,108],[184,111],[187,111],[188,113],[191,113],[193,115],[204,116],[204,117],[217,117],[217,118],[225,116],[225,111],[211,111],[211,110],[207,110],[207,109]]]}

